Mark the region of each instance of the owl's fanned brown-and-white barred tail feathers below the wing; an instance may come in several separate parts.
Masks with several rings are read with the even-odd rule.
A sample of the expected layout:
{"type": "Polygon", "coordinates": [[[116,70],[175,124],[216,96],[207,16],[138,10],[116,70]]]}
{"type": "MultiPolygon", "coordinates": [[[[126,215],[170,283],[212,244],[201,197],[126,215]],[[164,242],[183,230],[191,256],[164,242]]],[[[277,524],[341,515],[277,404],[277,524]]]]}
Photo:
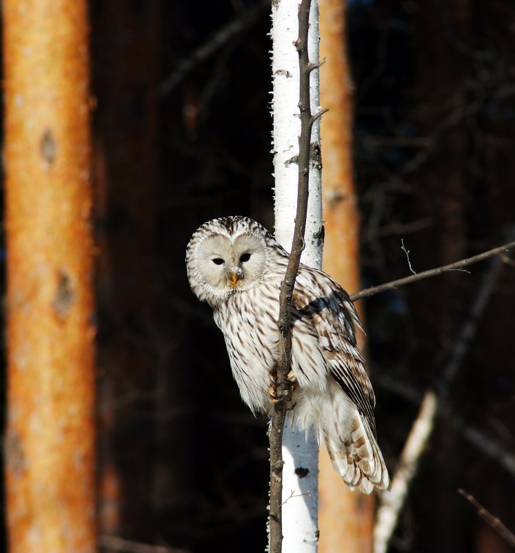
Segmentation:
{"type": "Polygon", "coordinates": [[[350,407],[346,396],[343,402],[347,405],[336,407],[332,420],[325,418],[328,424],[321,424],[334,469],[350,489],[357,487],[364,494],[370,494],[374,487],[387,489],[390,478],[374,432],[355,405],[350,407]]]}

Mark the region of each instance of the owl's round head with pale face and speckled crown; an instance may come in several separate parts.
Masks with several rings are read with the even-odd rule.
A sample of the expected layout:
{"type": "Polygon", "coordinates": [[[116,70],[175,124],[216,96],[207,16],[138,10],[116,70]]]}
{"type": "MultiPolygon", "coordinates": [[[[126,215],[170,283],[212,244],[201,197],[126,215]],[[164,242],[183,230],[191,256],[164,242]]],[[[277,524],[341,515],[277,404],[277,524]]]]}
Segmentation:
{"type": "Polygon", "coordinates": [[[200,226],[186,250],[188,279],[199,300],[214,306],[257,286],[268,264],[268,239],[273,240],[248,217],[223,217],[200,226]]]}

